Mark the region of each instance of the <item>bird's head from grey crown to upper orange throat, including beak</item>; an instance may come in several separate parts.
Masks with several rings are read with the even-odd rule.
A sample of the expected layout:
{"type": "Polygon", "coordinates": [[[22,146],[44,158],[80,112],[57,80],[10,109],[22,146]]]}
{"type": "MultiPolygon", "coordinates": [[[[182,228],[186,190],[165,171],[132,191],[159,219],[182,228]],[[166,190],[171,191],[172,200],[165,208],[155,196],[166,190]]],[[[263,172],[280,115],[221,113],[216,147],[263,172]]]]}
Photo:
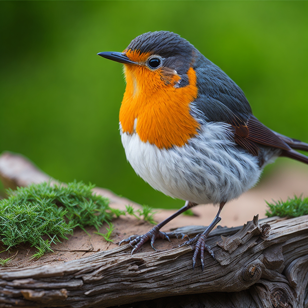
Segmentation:
{"type": "Polygon", "coordinates": [[[168,31],[147,32],[137,36],[123,52],[100,52],[98,55],[124,63],[132,93],[188,85],[188,70],[199,52],[187,40],[168,31]],[[148,89],[147,89],[148,88],[148,89]]]}

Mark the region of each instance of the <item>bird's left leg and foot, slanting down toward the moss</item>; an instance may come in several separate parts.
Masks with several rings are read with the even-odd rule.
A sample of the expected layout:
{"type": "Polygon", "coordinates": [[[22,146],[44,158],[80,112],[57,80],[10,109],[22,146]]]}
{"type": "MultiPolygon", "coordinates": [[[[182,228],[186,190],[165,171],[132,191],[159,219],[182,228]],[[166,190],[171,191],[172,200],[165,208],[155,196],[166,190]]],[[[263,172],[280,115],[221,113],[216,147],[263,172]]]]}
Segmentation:
{"type": "Polygon", "coordinates": [[[138,251],[138,249],[140,249],[140,247],[145,242],[147,242],[148,240],[151,239],[151,246],[154,250],[156,250],[154,248],[154,241],[156,240],[156,238],[166,239],[170,242],[168,235],[164,232],[159,231],[160,228],[163,227],[166,223],[171,221],[176,216],[180,215],[181,213],[185,212],[186,210],[192,208],[195,205],[197,205],[197,204],[190,202],[190,201],[186,201],[185,205],[182,208],[180,208],[176,213],[174,213],[171,216],[169,216],[168,218],[166,218],[164,221],[157,224],[149,232],[145,233],[144,235],[140,235],[140,236],[132,235],[132,236],[128,237],[127,239],[120,241],[119,245],[121,245],[124,242],[129,242],[129,244],[132,247],[134,247],[132,249],[132,254],[133,254],[134,252],[138,251]]]}

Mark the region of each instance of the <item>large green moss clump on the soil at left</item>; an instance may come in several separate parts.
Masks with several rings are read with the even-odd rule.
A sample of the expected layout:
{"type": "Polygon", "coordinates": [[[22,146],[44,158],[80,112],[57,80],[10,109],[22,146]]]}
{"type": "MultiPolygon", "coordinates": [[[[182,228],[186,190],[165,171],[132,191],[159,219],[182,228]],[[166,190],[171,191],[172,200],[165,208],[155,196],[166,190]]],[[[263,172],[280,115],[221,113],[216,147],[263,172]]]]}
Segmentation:
{"type": "Polygon", "coordinates": [[[77,226],[99,230],[103,222],[123,213],[111,209],[108,199],[93,194],[94,186],[45,182],[7,190],[8,198],[0,200],[0,240],[7,249],[29,242],[37,249],[33,257],[39,258],[77,226]]]}

